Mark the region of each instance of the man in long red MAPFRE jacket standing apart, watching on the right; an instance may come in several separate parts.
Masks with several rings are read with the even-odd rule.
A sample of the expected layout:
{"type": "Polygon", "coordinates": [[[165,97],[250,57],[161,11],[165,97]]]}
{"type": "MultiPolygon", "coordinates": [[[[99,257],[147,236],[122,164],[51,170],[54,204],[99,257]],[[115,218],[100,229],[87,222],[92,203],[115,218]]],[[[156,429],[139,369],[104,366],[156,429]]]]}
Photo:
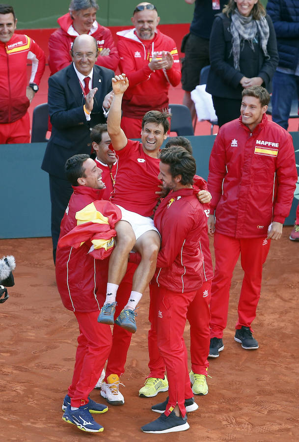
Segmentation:
{"type": "Polygon", "coordinates": [[[241,116],[220,128],[210,157],[208,231],[214,236],[216,260],[210,304],[212,358],[217,358],[224,347],[229,289],[240,252],[245,275],[235,340],[245,350],[259,347],[251,323],[260,298],[262,267],[270,240],[282,235],[296,188],[292,137],[268,120],[269,101],[270,95],[262,86],[244,89],[241,116]]]}

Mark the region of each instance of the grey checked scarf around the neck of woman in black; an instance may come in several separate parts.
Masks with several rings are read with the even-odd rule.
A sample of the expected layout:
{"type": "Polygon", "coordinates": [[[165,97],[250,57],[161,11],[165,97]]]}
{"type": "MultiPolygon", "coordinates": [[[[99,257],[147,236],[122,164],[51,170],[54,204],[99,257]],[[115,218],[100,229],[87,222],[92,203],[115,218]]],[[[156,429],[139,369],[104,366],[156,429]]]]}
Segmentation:
{"type": "MultiPolygon", "coordinates": [[[[266,58],[270,58],[267,51],[267,44],[269,39],[269,25],[264,16],[261,16],[260,20],[253,20],[252,14],[249,17],[244,17],[240,14],[236,8],[231,16],[231,26],[230,32],[233,36],[232,38],[232,50],[231,54],[234,57],[234,68],[240,71],[239,61],[240,61],[240,51],[244,47],[244,41],[247,40],[249,45],[254,51],[254,38],[256,34],[259,35],[260,46],[266,58]],[[241,48],[241,40],[243,40],[243,45],[241,48]]],[[[230,54],[230,55],[231,55],[230,54]]]]}

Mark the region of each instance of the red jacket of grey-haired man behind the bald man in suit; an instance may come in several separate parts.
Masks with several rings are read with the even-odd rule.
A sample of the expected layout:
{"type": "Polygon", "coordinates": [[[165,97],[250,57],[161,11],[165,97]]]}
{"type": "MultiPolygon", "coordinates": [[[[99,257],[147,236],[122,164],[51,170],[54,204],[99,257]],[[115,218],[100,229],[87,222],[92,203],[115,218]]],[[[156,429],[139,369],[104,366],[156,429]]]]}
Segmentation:
{"type": "MultiPolygon", "coordinates": [[[[57,20],[59,29],[56,29],[49,38],[49,67],[51,75],[60,69],[65,68],[72,62],[70,50],[75,38],[79,35],[73,28],[73,20],[69,13],[64,14],[57,20]]],[[[96,20],[92,24],[89,35],[97,40],[98,50],[101,53],[103,48],[109,48],[109,55],[99,55],[96,64],[115,71],[118,65],[118,53],[113,41],[111,31],[101,26],[96,20]]]]}

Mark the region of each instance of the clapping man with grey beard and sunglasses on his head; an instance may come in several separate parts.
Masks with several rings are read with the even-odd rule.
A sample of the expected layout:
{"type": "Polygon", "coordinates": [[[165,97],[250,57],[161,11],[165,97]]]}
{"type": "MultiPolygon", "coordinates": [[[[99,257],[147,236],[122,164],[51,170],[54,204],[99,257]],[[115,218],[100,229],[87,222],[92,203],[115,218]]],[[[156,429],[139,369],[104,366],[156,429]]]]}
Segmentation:
{"type": "Polygon", "coordinates": [[[119,67],[130,83],[121,127],[128,138],[140,138],[143,115],[168,108],[168,89],[180,83],[181,68],[174,40],[157,29],[160,17],[152,3],[139,3],[131,20],[133,29],[117,32],[119,67]]]}

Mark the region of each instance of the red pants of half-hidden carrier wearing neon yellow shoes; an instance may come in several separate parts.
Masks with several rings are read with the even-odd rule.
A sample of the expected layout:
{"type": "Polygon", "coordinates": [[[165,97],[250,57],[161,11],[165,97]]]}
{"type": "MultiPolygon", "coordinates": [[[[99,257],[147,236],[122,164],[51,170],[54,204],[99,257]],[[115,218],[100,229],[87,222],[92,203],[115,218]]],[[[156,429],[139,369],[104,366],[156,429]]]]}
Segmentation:
{"type": "MultiPolygon", "coordinates": [[[[187,310],[187,319],[190,323],[190,354],[191,368],[193,373],[207,375],[209,367],[208,354],[210,349],[210,299],[211,299],[211,283],[205,281],[200,289],[196,292],[196,296],[190,303],[187,310]]],[[[150,285],[150,308],[149,321],[151,328],[148,332],[148,353],[149,353],[149,369],[148,378],[163,379],[165,374],[165,364],[160,355],[157,343],[157,296],[156,289],[153,284],[150,285]]],[[[189,399],[189,398],[185,398],[189,399]]]]}

